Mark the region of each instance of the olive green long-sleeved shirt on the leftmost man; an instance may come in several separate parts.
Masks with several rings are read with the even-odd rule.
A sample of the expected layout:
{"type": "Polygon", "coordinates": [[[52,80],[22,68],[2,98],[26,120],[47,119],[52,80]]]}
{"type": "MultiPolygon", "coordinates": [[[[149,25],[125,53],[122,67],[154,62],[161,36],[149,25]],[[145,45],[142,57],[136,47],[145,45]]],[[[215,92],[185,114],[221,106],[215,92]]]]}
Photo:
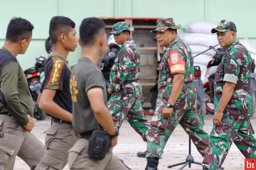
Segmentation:
{"type": "MultiPolygon", "coordinates": [[[[1,54],[4,51],[8,50],[2,47],[1,54]]],[[[6,56],[14,57],[10,51],[6,56]]],[[[0,68],[0,90],[0,114],[9,112],[21,125],[26,125],[29,121],[27,115],[33,116],[34,107],[28,82],[19,61],[8,61],[0,68]]]]}

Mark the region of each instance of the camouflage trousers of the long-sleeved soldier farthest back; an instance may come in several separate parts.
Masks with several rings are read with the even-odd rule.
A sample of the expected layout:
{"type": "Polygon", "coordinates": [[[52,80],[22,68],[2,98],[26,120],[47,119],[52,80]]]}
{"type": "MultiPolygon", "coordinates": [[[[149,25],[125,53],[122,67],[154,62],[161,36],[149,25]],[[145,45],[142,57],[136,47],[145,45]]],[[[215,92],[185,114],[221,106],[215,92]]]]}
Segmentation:
{"type": "Polygon", "coordinates": [[[137,97],[134,92],[127,93],[127,95],[128,107],[124,106],[123,96],[120,91],[113,92],[108,101],[108,109],[113,117],[114,125],[119,129],[124,118],[126,118],[142,139],[147,141],[149,122],[142,109],[140,97],[137,97]]]}

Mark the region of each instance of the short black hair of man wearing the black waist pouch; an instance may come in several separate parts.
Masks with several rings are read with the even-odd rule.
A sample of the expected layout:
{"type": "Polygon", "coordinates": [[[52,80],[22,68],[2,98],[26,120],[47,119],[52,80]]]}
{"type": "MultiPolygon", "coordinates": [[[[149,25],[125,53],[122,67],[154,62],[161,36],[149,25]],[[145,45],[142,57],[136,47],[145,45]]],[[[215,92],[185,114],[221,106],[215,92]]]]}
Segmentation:
{"type": "Polygon", "coordinates": [[[105,23],[102,19],[96,17],[83,19],[79,28],[82,46],[93,45],[101,30],[105,30],[105,23]]]}

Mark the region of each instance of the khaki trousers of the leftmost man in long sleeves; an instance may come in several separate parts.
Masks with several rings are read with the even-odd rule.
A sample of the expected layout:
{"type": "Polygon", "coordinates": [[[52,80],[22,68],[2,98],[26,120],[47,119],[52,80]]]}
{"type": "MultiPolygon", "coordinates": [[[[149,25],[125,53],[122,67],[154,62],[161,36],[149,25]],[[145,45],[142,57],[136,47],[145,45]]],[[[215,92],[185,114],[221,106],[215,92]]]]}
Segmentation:
{"type": "Polygon", "coordinates": [[[16,156],[34,169],[43,154],[43,144],[13,116],[0,115],[0,169],[12,170],[16,156]]]}

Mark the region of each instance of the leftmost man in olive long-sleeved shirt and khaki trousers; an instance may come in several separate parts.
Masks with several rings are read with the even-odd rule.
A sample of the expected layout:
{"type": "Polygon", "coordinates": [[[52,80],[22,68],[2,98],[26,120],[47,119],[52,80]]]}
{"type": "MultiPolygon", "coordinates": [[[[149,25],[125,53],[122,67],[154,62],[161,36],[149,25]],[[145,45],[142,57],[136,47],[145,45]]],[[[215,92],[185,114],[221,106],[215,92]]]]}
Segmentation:
{"type": "Polygon", "coordinates": [[[32,133],[33,100],[27,79],[16,59],[29,46],[34,26],[12,18],[0,49],[0,169],[12,170],[16,156],[34,169],[44,154],[43,144],[32,133]]]}

